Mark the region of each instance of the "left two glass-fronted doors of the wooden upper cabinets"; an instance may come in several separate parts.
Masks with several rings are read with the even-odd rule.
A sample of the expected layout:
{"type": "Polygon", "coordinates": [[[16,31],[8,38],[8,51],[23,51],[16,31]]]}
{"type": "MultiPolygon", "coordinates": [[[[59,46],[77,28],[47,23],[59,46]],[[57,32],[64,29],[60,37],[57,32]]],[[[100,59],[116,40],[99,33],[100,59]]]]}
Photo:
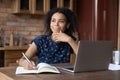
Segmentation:
{"type": "Polygon", "coordinates": [[[13,13],[44,14],[46,0],[13,0],[13,13]]]}

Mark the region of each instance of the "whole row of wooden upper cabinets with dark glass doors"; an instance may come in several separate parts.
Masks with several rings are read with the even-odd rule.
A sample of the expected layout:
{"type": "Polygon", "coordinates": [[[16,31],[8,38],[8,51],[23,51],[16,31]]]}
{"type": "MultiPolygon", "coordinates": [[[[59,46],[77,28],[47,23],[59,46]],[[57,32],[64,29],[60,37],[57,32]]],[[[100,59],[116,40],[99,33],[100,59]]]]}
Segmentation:
{"type": "Polygon", "coordinates": [[[46,14],[55,7],[73,10],[73,0],[13,0],[13,13],[46,14]]]}

